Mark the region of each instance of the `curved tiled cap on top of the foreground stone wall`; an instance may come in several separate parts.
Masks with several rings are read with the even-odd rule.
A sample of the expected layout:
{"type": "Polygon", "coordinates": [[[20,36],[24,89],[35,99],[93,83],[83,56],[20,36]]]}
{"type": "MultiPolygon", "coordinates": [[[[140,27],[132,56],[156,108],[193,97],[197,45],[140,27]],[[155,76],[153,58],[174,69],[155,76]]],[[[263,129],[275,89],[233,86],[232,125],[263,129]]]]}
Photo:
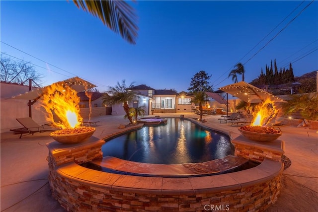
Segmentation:
{"type": "Polygon", "coordinates": [[[127,193],[158,195],[196,195],[206,192],[226,192],[265,183],[278,177],[283,164],[265,159],[259,166],[244,171],[220,175],[166,178],[119,175],[87,169],[75,162],[61,165],[57,174],[64,180],[72,180],[76,184],[93,185],[98,188],[127,193]]]}

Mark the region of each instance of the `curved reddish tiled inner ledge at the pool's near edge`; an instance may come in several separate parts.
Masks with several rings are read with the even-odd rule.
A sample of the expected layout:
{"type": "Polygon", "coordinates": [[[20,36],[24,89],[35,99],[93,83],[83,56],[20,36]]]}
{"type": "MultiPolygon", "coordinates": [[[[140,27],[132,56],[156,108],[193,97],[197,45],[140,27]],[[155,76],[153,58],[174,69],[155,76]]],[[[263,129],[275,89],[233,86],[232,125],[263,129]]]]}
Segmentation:
{"type": "MultiPolygon", "coordinates": [[[[224,158],[215,159],[202,163],[184,164],[153,164],[140,163],[123,160],[117,157],[105,156],[100,159],[83,164],[84,167],[92,168],[97,171],[104,171],[117,174],[127,174],[148,177],[200,177],[216,174],[225,174],[231,171],[239,171],[244,164],[247,166],[249,160],[227,155],[224,158]]],[[[258,163],[253,164],[254,166],[258,163]]],[[[251,166],[250,166],[251,167],[251,166]]]]}

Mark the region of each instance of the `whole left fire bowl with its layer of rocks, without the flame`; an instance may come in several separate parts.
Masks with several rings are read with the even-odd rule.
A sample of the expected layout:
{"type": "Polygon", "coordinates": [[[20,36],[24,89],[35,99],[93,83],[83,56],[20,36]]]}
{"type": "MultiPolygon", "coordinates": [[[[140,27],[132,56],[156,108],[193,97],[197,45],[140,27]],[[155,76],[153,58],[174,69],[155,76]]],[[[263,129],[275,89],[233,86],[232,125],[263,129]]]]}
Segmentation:
{"type": "Polygon", "coordinates": [[[95,131],[96,129],[92,127],[80,127],[54,131],[50,134],[50,136],[60,143],[73,144],[86,141],[94,134],[95,131]]]}

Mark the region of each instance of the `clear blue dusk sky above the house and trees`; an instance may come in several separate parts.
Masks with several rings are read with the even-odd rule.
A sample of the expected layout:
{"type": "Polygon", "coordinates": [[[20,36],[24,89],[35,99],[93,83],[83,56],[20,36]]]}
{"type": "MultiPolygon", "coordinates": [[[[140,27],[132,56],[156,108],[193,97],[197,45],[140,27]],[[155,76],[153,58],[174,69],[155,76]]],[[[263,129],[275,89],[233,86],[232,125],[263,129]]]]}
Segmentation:
{"type": "Polygon", "coordinates": [[[79,76],[99,91],[126,79],[127,84],[180,92],[203,70],[212,74],[217,90],[233,83],[228,75],[238,62],[244,65],[247,82],[274,59],[278,68],[292,63],[295,76],[317,71],[318,1],[310,3],[131,2],[139,16],[137,44],[131,45],[72,1],[1,0],[0,48],[43,67],[35,66],[44,76],[43,86],[79,76]]]}

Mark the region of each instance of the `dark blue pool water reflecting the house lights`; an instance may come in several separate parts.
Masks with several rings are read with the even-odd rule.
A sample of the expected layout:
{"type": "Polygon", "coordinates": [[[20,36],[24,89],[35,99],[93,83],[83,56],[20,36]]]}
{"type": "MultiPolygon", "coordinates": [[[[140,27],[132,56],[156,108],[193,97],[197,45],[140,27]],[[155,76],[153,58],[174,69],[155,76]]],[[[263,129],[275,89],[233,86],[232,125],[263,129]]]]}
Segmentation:
{"type": "Polygon", "coordinates": [[[230,138],[189,120],[168,118],[167,124],[106,141],[103,156],[156,164],[201,163],[234,154],[230,138]]]}

